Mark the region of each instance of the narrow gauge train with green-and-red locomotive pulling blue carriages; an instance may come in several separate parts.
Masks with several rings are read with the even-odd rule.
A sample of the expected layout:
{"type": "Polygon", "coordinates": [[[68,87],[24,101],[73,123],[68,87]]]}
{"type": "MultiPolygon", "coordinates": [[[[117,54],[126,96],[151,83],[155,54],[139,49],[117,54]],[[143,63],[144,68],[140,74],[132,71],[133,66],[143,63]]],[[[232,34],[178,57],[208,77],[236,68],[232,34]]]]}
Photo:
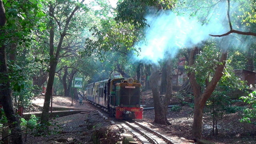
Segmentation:
{"type": "Polygon", "coordinates": [[[142,119],[141,84],[133,79],[114,78],[88,84],[86,99],[108,109],[116,119],[142,119]]]}

